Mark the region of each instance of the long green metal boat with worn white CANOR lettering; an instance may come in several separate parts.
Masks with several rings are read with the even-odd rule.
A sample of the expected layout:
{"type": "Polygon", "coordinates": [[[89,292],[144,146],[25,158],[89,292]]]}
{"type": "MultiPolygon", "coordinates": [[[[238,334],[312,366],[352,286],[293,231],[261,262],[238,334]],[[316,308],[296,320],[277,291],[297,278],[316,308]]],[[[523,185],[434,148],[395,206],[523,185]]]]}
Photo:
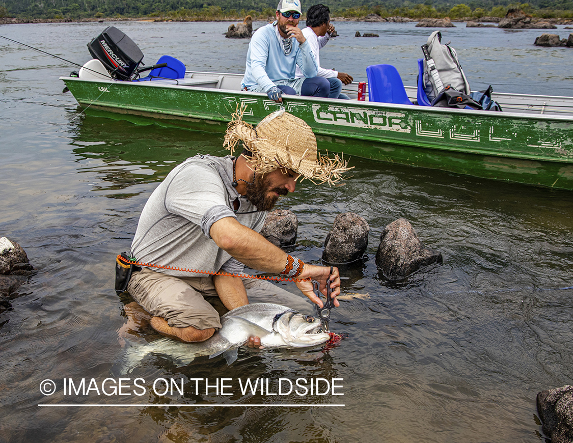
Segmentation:
{"type": "MultiPolygon", "coordinates": [[[[81,72],[80,72],[81,73],[81,72]]],[[[241,74],[187,71],[185,77],[120,81],[107,73],[60,77],[82,112],[223,134],[238,106],[256,124],[280,104],[241,91],[241,74]]],[[[457,174],[573,190],[573,97],[494,93],[503,112],[283,96],[307,121],[319,148],[457,174]]],[[[415,100],[417,88],[406,87],[415,100]]],[[[366,100],[368,95],[366,93],[366,100]]],[[[415,103],[415,102],[414,102],[415,103]]]]}

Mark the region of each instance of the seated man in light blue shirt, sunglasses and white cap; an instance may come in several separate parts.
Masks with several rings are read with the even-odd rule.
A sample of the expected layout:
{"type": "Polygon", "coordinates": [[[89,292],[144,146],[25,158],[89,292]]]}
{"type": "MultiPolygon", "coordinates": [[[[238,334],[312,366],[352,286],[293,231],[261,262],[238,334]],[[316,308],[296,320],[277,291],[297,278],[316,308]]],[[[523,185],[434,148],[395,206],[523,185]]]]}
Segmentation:
{"type": "Polygon", "coordinates": [[[281,0],[276,21],[256,30],[247,51],[243,89],[265,92],[277,102],[282,102],[282,93],[329,96],[330,84],[317,76],[318,65],[312,49],[298,28],[300,15],[300,0],[281,0]],[[299,79],[297,66],[301,72],[299,79]]]}

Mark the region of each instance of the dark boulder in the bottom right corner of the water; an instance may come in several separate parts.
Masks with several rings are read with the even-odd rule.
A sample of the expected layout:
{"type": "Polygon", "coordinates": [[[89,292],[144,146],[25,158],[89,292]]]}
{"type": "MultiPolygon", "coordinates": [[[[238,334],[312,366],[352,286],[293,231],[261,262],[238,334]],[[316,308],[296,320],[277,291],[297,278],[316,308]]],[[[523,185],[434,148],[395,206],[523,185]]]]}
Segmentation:
{"type": "Polygon", "coordinates": [[[537,394],[537,413],[552,443],[573,442],[573,386],[541,391],[537,394]]]}

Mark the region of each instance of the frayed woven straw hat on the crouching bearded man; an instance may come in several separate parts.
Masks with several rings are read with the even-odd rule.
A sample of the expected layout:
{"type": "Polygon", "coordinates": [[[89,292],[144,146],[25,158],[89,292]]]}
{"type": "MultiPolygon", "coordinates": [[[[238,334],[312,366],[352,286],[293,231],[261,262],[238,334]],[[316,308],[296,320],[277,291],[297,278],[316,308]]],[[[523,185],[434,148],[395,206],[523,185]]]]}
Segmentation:
{"type": "Polygon", "coordinates": [[[246,106],[238,107],[225,134],[223,147],[233,154],[239,140],[252,152],[251,168],[259,174],[270,173],[278,168],[288,168],[299,173],[301,180],[308,178],[313,183],[336,185],[342,174],[351,170],[348,161],[337,154],[329,159],[316,148],[316,138],[304,120],[295,117],[284,108],[275,111],[256,128],[242,120],[246,106]]]}

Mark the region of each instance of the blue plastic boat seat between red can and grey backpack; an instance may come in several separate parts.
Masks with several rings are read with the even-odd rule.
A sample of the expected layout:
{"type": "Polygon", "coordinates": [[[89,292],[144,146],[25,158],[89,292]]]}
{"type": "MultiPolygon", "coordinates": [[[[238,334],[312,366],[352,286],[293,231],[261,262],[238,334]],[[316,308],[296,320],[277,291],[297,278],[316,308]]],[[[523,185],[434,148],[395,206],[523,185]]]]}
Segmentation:
{"type": "Polygon", "coordinates": [[[379,103],[411,105],[398,70],[392,65],[370,65],[368,77],[368,100],[379,103]]]}

